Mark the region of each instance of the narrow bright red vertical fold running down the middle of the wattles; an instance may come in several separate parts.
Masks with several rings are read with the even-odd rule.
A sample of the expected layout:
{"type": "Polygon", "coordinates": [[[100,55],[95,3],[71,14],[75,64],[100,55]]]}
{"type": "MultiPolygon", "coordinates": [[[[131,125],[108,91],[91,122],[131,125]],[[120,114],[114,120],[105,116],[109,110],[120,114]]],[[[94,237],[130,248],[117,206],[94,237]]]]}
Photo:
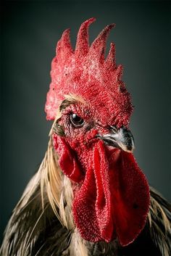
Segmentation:
{"type": "Polygon", "coordinates": [[[104,146],[99,141],[93,152],[93,170],[96,178],[96,218],[99,223],[101,238],[110,241],[113,238],[112,200],[109,191],[109,164],[104,146]]]}

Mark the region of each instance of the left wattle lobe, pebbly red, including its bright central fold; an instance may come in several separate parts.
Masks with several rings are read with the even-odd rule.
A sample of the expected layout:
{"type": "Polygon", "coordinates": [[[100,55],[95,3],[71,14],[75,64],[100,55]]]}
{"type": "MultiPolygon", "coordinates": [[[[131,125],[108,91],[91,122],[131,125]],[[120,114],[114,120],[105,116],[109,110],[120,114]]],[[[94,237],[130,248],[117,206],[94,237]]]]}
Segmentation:
{"type": "Polygon", "coordinates": [[[98,141],[91,152],[92,165],[76,194],[72,210],[75,224],[83,239],[111,241],[115,237],[112,199],[109,191],[109,165],[104,144],[98,141]]]}

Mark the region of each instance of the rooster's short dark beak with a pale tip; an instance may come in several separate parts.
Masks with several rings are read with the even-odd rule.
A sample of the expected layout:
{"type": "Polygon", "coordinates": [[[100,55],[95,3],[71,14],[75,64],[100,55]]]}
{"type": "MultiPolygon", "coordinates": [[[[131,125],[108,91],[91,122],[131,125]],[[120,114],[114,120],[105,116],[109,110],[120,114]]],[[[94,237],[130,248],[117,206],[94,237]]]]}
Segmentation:
{"type": "Polygon", "coordinates": [[[115,126],[110,126],[110,133],[98,135],[98,137],[108,146],[114,146],[125,152],[133,152],[135,148],[132,133],[124,127],[117,129],[115,126]]]}

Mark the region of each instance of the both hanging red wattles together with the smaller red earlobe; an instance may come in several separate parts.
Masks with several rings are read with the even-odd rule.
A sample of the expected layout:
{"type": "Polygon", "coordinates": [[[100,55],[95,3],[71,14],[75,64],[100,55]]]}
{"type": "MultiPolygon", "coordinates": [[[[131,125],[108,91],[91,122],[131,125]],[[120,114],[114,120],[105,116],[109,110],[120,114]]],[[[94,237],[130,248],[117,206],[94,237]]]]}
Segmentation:
{"type": "Polygon", "coordinates": [[[64,174],[83,182],[72,204],[83,239],[109,242],[118,237],[122,246],[134,241],[146,223],[149,186],[133,154],[96,141],[82,156],[86,161],[83,173],[76,153],[64,139],[54,136],[54,147],[64,174]]]}

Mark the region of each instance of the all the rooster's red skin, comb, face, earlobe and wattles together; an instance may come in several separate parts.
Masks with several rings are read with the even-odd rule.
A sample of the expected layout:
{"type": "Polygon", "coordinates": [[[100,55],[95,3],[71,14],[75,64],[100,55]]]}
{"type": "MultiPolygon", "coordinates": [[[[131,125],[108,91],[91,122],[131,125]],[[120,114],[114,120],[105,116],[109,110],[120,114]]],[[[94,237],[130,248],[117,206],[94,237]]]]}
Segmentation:
{"type": "Polygon", "coordinates": [[[120,80],[121,66],[114,62],[114,44],[107,59],[104,47],[109,30],[105,28],[91,47],[88,25],[78,32],[75,52],[69,30],[65,30],[52,62],[51,86],[47,95],[47,119],[56,116],[64,94],[81,96],[86,104],[75,104],[62,112],[59,124],[64,137],[54,133],[54,149],[64,174],[79,183],[72,205],[75,225],[88,241],[112,241],[130,244],[143,229],[149,212],[149,186],[133,154],[111,149],[96,134],[109,133],[109,125],[128,127],[133,110],[130,94],[120,80]],[[83,128],[74,128],[70,112],[85,120],[83,128]]]}

